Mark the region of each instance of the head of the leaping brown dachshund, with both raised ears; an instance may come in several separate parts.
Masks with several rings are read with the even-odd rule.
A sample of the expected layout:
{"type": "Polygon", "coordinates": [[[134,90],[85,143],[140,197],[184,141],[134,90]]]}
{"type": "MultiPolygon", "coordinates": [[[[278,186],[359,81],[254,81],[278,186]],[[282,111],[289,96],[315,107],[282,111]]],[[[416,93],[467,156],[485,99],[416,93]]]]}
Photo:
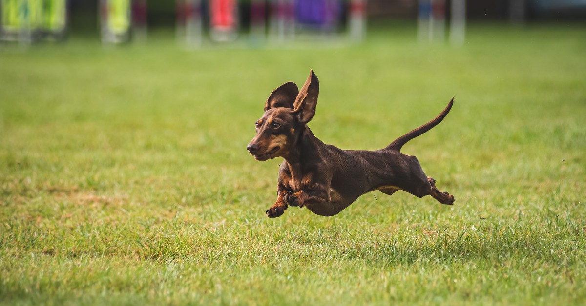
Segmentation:
{"type": "Polygon", "coordinates": [[[304,126],[314,118],[318,104],[319,81],[313,70],[301,88],[287,82],[268,97],[264,114],[256,122],[257,135],[246,149],[256,160],[287,157],[304,126]]]}

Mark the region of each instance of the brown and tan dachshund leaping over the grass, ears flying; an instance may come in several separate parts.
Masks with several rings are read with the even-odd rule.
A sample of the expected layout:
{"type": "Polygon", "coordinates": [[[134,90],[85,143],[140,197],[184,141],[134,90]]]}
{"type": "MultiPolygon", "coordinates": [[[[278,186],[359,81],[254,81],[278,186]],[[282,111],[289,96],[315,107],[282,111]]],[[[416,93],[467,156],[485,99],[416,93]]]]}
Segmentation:
{"type": "Polygon", "coordinates": [[[281,216],[287,206],[307,207],[314,214],[338,214],[360,195],[380,190],[393,194],[404,190],[415,197],[431,195],[441,204],[452,205],[454,197],[435,187],[425,176],[415,156],[400,152],[409,140],[440,123],[454,99],[432,121],[398,137],[381,150],[341,150],[325,145],[307,123],[315,115],[319,81],[312,70],[301,91],[287,82],[272,92],[256,122],[257,135],[247,149],[255,159],[285,160],[279,170],[277,202],[266,211],[270,218],[281,216]]]}

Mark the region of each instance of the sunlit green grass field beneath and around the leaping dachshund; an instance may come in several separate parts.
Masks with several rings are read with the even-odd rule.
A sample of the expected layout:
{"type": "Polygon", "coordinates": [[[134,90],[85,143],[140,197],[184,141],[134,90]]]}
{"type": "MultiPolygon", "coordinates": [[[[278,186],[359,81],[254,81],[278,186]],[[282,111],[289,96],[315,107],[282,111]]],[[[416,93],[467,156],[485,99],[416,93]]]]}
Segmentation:
{"type": "Polygon", "coordinates": [[[472,25],[466,46],[184,51],[171,32],[0,46],[0,304],[586,303],[586,27],[472,25]],[[278,85],[309,126],[408,143],[453,207],[373,192],[268,219],[280,160],[246,152],[278,85]]]}

